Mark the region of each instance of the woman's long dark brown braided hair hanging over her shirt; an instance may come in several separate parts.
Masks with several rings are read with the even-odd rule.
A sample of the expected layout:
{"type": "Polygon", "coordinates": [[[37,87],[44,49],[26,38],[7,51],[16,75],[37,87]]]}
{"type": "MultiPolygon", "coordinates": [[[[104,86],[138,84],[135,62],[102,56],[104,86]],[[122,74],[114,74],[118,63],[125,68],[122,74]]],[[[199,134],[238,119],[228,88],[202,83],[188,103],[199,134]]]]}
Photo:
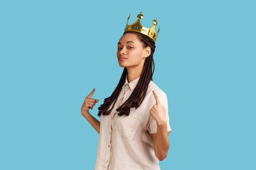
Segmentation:
{"type": "MultiPolygon", "coordinates": [[[[116,109],[116,111],[118,111],[119,116],[122,116],[122,115],[128,116],[130,114],[131,107],[135,107],[137,109],[141,105],[141,103],[143,102],[143,100],[145,98],[146,92],[148,90],[148,84],[149,84],[150,80],[153,81],[152,76],[153,76],[154,70],[155,70],[155,64],[154,64],[154,59],[153,59],[153,53],[154,53],[155,47],[156,47],[155,42],[150,37],[148,37],[140,32],[135,32],[135,31],[127,31],[127,32],[136,34],[138,39],[141,42],[143,42],[143,47],[146,48],[147,46],[149,46],[151,48],[151,52],[150,52],[150,55],[148,57],[146,57],[146,60],[144,62],[143,71],[141,73],[141,77],[139,78],[138,83],[137,83],[136,87],[134,88],[133,92],[131,93],[130,97],[116,109]],[[154,66],[153,72],[152,72],[152,65],[154,66]]],[[[125,35],[125,33],[127,33],[127,32],[124,32],[123,35],[125,35]]],[[[105,98],[104,103],[102,105],[100,105],[100,107],[98,107],[98,109],[99,109],[98,116],[100,116],[101,114],[109,115],[109,113],[113,109],[115,102],[122,90],[122,86],[125,83],[126,75],[128,75],[128,71],[124,67],[122,76],[118,82],[117,87],[113,91],[112,95],[110,97],[105,98]],[[108,108],[110,107],[110,105],[113,102],[114,102],[113,106],[111,107],[110,110],[108,110],[108,108]]]]}

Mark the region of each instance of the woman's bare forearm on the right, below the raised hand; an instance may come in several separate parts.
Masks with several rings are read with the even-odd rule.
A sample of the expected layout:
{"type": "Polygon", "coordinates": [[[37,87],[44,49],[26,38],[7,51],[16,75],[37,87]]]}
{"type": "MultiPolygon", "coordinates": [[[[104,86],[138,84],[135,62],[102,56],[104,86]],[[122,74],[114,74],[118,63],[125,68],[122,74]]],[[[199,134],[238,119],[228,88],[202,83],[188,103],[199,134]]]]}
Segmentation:
{"type": "Polygon", "coordinates": [[[156,143],[154,145],[154,150],[156,153],[156,157],[159,160],[164,160],[167,156],[167,152],[169,150],[169,138],[167,134],[167,122],[159,122],[156,123],[157,132],[156,132],[156,143]]]}

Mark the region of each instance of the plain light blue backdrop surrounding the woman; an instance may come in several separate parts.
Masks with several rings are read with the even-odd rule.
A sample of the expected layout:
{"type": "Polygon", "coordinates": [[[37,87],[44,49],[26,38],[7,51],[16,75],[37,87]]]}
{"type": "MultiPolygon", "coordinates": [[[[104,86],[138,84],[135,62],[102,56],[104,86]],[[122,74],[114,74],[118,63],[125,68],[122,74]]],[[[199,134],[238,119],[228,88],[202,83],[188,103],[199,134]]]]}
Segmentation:
{"type": "Polygon", "coordinates": [[[160,28],[153,81],[172,132],[161,170],[255,169],[255,1],[0,2],[0,169],[92,170],[98,133],[85,97],[111,95],[117,42],[137,20],[160,28]],[[254,162],[253,162],[254,161],[254,162]]]}

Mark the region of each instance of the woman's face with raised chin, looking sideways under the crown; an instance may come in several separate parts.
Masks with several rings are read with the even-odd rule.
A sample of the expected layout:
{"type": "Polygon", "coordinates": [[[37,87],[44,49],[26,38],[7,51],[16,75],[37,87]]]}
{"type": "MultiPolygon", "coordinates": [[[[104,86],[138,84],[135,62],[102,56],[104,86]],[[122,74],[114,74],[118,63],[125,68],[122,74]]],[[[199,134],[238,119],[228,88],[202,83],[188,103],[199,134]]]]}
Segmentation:
{"type": "Polygon", "coordinates": [[[150,47],[143,48],[142,42],[138,40],[137,35],[126,33],[118,42],[118,63],[120,67],[126,68],[143,65],[150,52],[150,47]]]}

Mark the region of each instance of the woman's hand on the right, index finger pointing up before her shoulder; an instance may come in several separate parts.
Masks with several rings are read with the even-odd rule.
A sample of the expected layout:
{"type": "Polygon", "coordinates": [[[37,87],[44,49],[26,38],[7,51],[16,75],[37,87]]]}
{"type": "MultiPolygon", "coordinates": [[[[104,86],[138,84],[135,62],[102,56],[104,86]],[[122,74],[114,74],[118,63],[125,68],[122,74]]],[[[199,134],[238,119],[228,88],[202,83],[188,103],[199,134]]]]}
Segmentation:
{"type": "Polygon", "coordinates": [[[156,92],[154,90],[152,92],[155,96],[156,104],[153,105],[153,107],[149,110],[149,112],[150,112],[151,116],[153,117],[153,119],[156,120],[157,124],[166,122],[167,121],[166,117],[165,117],[166,110],[165,110],[164,106],[161,105],[156,92]]]}

